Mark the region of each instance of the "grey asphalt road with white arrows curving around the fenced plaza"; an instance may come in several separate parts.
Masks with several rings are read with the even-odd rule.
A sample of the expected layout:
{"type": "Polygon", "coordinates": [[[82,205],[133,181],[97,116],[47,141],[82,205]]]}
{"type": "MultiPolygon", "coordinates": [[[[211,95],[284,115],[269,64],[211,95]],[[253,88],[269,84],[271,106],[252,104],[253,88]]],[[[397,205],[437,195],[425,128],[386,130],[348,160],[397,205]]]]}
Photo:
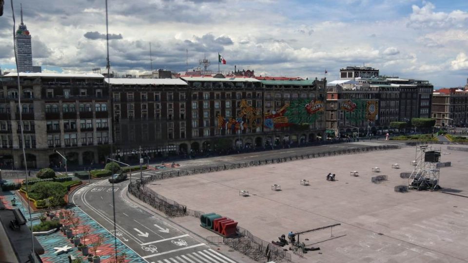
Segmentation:
{"type": "MultiPolygon", "coordinates": [[[[240,163],[329,150],[361,148],[382,143],[386,142],[361,141],[187,160],[180,162],[181,167],[176,169],[240,163]]],[[[144,171],[141,174],[149,176],[156,172],[158,171],[144,171]]],[[[139,176],[140,172],[132,174],[133,178],[139,178],[139,176]]],[[[210,246],[200,242],[191,233],[177,229],[167,222],[166,219],[151,214],[128,201],[124,198],[128,183],[129,180],[126,180],[114,185],[117,238],[142,258],[150,263],[235,262],[211,249],[210,246]]],[[[114,233],[112,193],[112,184],[107,179],[103,179],[78,189],[72,198],[73,202],[96,220],[98,224],[102,225],[109,232],[114,233]]]]}

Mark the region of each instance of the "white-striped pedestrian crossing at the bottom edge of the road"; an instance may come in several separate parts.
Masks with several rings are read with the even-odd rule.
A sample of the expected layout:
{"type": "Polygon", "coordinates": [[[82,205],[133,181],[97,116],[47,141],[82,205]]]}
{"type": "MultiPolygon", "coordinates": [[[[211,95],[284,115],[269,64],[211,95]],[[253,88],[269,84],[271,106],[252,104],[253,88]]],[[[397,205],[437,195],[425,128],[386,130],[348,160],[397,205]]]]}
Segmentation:
{"type": "Polygon", "coordinates": [[[236,263],[236,262],[210,248],[210,249],[205,249],[201,251],[174,256],[172,258],[152,261],[151,263],[236,263]]]}

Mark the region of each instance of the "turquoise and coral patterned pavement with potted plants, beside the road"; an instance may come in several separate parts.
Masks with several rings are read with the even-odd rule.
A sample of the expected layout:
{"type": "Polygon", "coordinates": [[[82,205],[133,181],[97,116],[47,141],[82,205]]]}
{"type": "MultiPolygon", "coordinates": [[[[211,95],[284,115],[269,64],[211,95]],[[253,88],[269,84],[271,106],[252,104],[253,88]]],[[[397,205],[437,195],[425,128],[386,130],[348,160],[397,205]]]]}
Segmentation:
{"type": "MultiPolygon", "coordinates": [[[[1,202],[5,204],[5,207],[11,208],[10,200],[15,197],[13,192],[11,191],[4,191],[3,196],[1,198],[1,202]]],[[[27,208],[23,207],[20,202],[17,202],[18,208],[23,212],[24,216],[29,219],[29,214],[27,208]]],[[[97,237],[100,235],[103,237],[104,242],[98,248],[98,255],[101,256],[102,263],[110,263],[115,262],[112,261],[112,257],[115,254],[115,243],[114,243],[114,236],[111,235],[106,229],[98,225],[93,219],[91,219],[88,215],[86,215],[83,211],[81,211],[78,207],[73,207],[69,210],[72,210],[75,213],[75,216],[78,217],[81,221],[81,224],[78,226],[78,229],[83,229],[83,226],[90,227],[89,236],[86,238],[86,244],[91,244],[97,237]]],[[[32,217],[38,217],[39,214],[32,214],[32,217]]],[[[33,220],[33,225],[39,224],[39,219],[33,220]]],[[[29,225],[29,222],[28,222],[29,225]]],[[[78,236],[80,235],[81,230],[78,230],[78,236]]],[[[47,236],[36,236],[39,243],[44,247],[45,253],[40,256],[44,263],[65,263],[68,262],[68,255],[73,255],[75,257],[79,257],[82,259],[82,262],[87,262],[87,258],[82,256],[81,251],[70,243],[69,239],[66,238],[62,232],[57,231],[54,234],[47,235],[47,236]],[[60,255],[55,254],[54,247],[61,247],[64,245],[71,245],[73,248],[68,253],[62,253],[60,255]]],[[[81,241],[82,243],[82,241],[81,241]]],[[[89,247],[89,252],[93,253],[91,247],[89,247]]],[[[145,263],[146,261],[140,258],[133,250],[128,248],[125,244],[121,243],[117,240],[117,254],[121,255],[122,253],[126,253],[127,256],[125,258],[125,263],[145,263]]]]}

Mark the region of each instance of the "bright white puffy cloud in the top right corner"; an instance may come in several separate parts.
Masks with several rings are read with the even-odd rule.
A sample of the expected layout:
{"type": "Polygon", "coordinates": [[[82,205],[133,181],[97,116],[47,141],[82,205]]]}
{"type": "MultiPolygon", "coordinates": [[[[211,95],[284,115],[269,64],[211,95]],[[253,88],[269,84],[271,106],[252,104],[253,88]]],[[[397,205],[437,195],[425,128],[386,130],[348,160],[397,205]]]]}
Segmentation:
{"type": "Polygon", "coordinates": [[[412,5],[408,27],[411,28],[462,28],[468,24],[468,12],[454,10],[450,13],[434,12],[435,5],[425,2],[423,7],[412,5]]]}

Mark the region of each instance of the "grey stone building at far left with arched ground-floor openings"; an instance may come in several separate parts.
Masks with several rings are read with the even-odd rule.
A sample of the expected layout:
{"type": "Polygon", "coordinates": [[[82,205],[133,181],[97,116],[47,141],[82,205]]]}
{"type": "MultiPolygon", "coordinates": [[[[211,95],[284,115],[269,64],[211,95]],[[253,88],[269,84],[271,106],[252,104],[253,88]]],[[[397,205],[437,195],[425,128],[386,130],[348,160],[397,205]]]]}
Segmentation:
{"type": "Polygon", "coordinates": [[[102,75],[20,73],[21,93],[16,73],[0,79],[2,167],[24,167],[20,111],[28,168],[63,167],[54,150],[69,167],[103,160],[112,123],[102,75]]]}

